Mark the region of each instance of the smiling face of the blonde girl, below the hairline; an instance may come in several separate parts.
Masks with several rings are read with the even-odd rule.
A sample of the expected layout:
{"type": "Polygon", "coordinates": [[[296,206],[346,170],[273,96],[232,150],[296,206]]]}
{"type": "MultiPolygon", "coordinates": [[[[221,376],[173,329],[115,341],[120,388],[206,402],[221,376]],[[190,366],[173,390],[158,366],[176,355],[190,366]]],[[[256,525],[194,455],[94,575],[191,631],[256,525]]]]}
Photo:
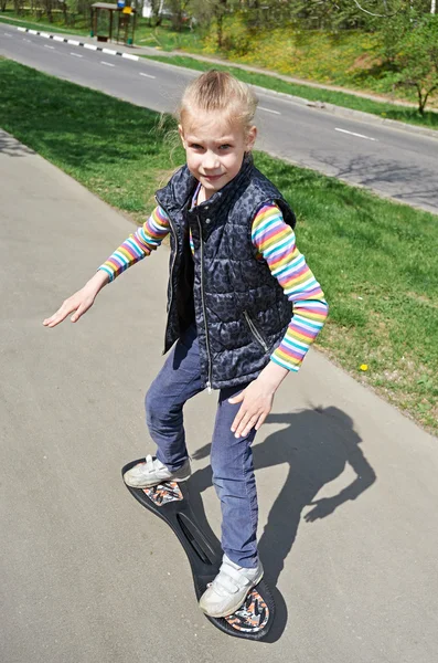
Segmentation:
{"type": "Polygon", "coordinates": [[[238,120],[220,113],[200,112],[179,126],[190,172],[201,182],[205,200],[227,185],[241,170],[245,151],[252,149],[256,127],[245,131],[238,120]]]}

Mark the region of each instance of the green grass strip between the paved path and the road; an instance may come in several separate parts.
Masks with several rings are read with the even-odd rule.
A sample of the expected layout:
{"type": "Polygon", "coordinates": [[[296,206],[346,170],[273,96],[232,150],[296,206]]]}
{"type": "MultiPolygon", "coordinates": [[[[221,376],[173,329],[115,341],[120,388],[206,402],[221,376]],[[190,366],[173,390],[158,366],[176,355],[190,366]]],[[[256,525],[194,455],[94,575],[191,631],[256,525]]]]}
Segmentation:
{"type": "MultiPolygon", "coordinates": [[[[157,113],[7,60],[0,77],[0,126],[137,221],[183,160],[164,140],[171,118],[160,128],[157,113]]],[[[319,347],[437,433],[438,217],[256,161],[296,210],[298,244],[330,302],[319,347]]]]}

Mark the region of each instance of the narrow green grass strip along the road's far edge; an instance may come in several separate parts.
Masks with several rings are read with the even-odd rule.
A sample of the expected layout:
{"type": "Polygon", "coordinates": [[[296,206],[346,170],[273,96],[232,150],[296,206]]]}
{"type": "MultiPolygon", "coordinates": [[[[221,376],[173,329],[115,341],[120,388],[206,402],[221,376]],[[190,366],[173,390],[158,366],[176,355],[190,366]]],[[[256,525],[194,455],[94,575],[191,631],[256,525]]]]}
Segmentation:
{"type": "Polygon", "coordinates": [[[382,102],[374,102],[364,97],[354,96],[344,92],[336,92],[331,90],[323,90],[321,87],[310,87],[309,85],[298,85],[296,83],[288,83],[270,76],[268,74],[258,74],[254,72],[247,72],[237,66],[228,66],[221,64],[211,64],[194,57],[184,55],[145,55],[148,60],[158,60],[159,62],[167,62],[177,66],[186,66],[192,70],[204,72],[212,67],[229,72],[236,78],[249,83],[252,85],[258,85],[268,90],[275,90],[276,92],[284,92],[295,96],[303,97],[313,102],[325,102],[328,104],[335,104],[336,106],[343,106],[345,108],[353,108],[355,110],[362,110],[364,113],[372,113],[380,117],[396,119],[398,122],[406,122],[409,124],[416,124],[425,126],[431,129],[438,129],[438,113],[426,112],[421,116],[415,108],[406,106],[396,106],[393,104],[385,104],[382,102]]]}

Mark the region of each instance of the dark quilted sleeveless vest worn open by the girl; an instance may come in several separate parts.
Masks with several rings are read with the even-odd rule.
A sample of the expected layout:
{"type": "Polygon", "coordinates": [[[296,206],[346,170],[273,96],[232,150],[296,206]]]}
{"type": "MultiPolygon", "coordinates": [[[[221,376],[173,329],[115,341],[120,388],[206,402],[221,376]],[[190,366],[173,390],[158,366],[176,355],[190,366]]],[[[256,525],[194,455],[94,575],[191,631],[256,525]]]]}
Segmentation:
{"type": "Polygon", "coordinates": [[[286,334],[292,306],[257,260],[250,231],[265,203],[276,202],[292,228],[295,215],[250,155],[231,182],[190,209],[196,186],[184,166],[157,192],[172,231],[164,352],[195,322],[201,378],[222,389],[254,380],[286,334]]]}

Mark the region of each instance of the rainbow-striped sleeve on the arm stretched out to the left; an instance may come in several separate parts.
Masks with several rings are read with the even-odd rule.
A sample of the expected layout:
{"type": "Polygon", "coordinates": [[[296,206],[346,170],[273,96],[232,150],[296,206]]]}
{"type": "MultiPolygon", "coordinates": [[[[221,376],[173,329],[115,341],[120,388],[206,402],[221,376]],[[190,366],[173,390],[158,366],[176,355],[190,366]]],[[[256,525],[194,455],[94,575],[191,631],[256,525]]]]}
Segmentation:
{"type": "Polygon", "coordinates": [[[108,274],[109,281],[114,281],[125,270],[157,250],[169,231],[169,217],[162,208],[156,207],[143,225],[129,235],[99,270],[108,274]]]}

